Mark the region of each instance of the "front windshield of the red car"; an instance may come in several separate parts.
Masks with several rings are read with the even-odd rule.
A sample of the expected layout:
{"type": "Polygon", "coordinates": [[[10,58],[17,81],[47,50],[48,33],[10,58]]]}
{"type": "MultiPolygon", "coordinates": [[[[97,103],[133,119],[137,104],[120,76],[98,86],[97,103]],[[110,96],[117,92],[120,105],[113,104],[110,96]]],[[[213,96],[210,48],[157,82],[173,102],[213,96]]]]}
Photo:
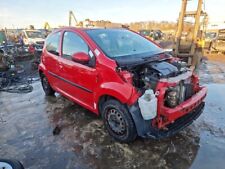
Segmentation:
{"type": "Polygon", "coordinates": [[[111,58],[162,52],[154,43],[126,29],[93,29],[87,33],[111,58]]]}

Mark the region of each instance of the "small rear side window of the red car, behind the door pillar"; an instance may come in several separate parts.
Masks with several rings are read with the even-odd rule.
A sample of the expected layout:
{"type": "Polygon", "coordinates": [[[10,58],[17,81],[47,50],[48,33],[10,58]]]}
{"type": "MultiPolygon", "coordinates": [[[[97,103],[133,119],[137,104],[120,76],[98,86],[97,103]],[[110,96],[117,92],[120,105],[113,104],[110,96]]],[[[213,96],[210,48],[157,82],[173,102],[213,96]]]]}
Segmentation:
{"type": "Polygon", "coordinates": [[[45,43],[48,52],[59,56],[60,32],[49,35],[45,43]]]}

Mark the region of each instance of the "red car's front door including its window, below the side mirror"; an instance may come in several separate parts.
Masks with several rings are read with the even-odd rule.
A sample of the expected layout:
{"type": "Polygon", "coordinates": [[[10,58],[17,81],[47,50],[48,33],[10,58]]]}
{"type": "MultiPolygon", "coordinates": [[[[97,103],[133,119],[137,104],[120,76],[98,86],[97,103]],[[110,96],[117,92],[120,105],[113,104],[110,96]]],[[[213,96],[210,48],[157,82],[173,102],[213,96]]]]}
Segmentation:
{"type": "Polygon", "coordinates": [[[71,31],[63,33],[60,58],[61,85],[68,97],[90,109],[95,107],[94,90],[97,72],[93,64],[94,57],[88,44],[80,35],[71,31]],[[72,55],[79,52],[87,54],[92,65],[72,61],[72,55]]]}

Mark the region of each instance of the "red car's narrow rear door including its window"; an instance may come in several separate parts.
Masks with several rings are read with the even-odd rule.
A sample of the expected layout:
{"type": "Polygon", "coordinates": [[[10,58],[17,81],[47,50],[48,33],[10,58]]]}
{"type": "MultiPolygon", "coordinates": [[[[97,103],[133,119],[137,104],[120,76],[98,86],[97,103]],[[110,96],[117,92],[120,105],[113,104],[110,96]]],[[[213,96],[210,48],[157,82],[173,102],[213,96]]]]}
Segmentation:
{"type": "Polygon", "coordinates": [[[45,49],[42,54],[42,61],[47,69],[47,78],[53,88],[59,88],[59,49],[60,32],[53,33],[45,41],[45,49]]]}

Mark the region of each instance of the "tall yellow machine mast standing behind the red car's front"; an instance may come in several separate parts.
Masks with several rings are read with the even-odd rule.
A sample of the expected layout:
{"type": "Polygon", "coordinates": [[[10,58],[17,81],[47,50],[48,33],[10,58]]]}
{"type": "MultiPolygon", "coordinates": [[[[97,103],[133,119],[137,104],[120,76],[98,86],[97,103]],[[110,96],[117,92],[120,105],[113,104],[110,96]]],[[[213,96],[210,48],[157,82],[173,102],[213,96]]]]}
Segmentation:
{"type": "Polygon", "coordinates": [[[203,11],[203,0],[198,0],[196,11],[187,11],[188,1],[190,0],[182,0],[173,52],[176,57],[186,61],[193,70],[197,70],[204,54],[204,34],[208,15],[203,11]],[[194,24],[190,26],[186,23],[187,18],[194,19],[194,24]],[[187,25],[190,26],[189,31],[185,29],[187,25]]]}

